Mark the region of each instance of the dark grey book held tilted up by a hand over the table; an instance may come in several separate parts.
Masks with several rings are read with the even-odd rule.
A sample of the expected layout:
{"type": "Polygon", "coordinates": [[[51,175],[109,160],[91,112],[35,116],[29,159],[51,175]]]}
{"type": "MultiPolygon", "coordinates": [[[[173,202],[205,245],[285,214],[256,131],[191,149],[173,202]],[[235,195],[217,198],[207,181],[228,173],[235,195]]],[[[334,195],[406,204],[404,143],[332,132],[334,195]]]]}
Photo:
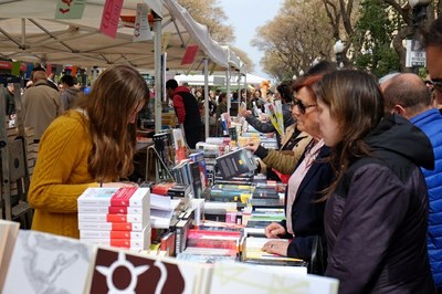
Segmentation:
{"type": "Polygon", "coordinates": [[[218,157],[217,166],[224,179],[256,169],[256,162],[252,154],[244,148],[218,157]]]}

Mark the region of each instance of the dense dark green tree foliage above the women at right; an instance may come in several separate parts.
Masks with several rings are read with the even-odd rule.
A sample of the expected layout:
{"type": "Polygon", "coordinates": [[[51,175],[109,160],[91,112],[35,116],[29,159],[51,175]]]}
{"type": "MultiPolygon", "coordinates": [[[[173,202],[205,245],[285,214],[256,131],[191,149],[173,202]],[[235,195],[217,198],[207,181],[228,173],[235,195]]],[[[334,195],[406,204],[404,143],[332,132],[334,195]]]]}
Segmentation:
{"type": "Polygon", "coordinates": [[[391,46],[397,13],[379,0],[365,0],[360,12],[352,36],[356,66],[378,77],[400,71],[399,56],[391,46]]]}

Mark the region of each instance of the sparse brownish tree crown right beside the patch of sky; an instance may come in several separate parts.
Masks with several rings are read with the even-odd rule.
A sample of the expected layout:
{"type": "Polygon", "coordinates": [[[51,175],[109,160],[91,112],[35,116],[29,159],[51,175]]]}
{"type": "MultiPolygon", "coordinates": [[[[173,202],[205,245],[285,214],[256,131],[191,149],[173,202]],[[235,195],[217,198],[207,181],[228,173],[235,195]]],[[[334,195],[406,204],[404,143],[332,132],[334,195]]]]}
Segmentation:
{"type": "Polygon", "coordinates": [[[252,45],[264,52],[264,72],[276,80],[292,78],[329,59],[333,31],[320,0],[286,0],[277,17],[260,27],[252,45]]]}

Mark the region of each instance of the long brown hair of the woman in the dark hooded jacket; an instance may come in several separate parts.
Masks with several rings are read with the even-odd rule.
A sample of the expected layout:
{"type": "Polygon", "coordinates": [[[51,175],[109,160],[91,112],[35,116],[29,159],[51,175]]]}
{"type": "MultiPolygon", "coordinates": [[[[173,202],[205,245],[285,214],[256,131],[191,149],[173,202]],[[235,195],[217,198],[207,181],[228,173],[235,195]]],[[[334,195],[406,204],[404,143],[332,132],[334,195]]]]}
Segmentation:
{"type": "Polygon", "coordinates": [[[341,135],[332,148],[332,165],[337,177],[326,198],[336,189],[343,175],[357,158],[370,156],[364,138],[383,117],[383,98],[376,78],[361,71],[343,70],[326,74],[316,85],[317,99],[327,105],[338,122],[341,135]]]}

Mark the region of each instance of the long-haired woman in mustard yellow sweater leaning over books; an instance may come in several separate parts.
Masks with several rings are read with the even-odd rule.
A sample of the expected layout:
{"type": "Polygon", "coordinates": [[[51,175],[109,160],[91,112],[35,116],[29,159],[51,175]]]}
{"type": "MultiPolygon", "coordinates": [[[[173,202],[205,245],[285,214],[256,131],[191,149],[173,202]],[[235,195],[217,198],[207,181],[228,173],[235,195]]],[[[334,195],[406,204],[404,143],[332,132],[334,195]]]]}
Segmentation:
{"type": "Polygon", "coordinates": [[[32,229],[78,238],[77,198],[88,187],[127,187],[134,169],[136,118],[149,90],[131,66],[104,71],[77,108],[44,132],[29,190],[32,229]]]}

